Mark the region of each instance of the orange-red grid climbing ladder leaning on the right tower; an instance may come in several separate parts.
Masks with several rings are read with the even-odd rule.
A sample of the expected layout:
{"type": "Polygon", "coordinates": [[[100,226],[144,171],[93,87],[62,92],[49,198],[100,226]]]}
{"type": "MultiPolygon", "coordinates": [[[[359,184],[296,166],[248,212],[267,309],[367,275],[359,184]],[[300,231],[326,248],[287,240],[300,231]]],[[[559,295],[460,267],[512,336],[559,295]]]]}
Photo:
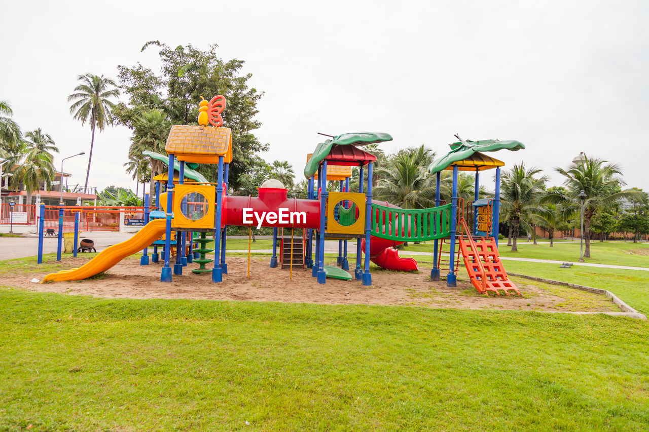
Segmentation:
{"type": "Polygon", "coordinates": [[[505,268],[500,261],[496,240],[493,237],[478,237],[478,240],[471,236],[467,221],[462,217],[460,220],[462,232],[458,236],[459,250],[464,258],[464,265],[469,272],[471,283],[480,294],[487,294],[489,291],[500,295],[498,291],[514,291],[520,295],[519,289],[507,276],[505,268]]]}

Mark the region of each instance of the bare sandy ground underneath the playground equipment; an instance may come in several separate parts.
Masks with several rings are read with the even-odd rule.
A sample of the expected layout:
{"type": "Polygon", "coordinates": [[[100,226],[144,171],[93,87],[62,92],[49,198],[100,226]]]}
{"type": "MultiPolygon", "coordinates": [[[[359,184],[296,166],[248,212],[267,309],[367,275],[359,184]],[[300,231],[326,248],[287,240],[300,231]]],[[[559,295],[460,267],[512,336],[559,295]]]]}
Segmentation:
{"type": "MultiPolygon", "coordinates": [[[[61,269],[79,267],[84,258],[64,258],[61,269]]],[[[88,294],[108,298],[192,298],[212,300],[249,300],[318,304],[411,305],[461,309],[517,309],[548,311],[617,311],[606,297],[574,289],[543,285],[514,279],[522,296],[484,296],[469,283],[464,269],[459,269],[458,286],[431,282],[430,269],[419,273],[373,270],[373,285],[327,279],[323,285],[311,276],[311,270],[270,269],[269,258],[253,258],[251,277],[247,278],[247,259],[228,257],[228,274],[222,283],[212,283],[211,274],[193,274],[196,264],[173,276],[173,282],[160,282],[161,263],[140,266],[139,259],[125,259],[108,272],[92,280],[31,283],[45,273],[3,274],[3,285],[49,293],[88,294]]]]}

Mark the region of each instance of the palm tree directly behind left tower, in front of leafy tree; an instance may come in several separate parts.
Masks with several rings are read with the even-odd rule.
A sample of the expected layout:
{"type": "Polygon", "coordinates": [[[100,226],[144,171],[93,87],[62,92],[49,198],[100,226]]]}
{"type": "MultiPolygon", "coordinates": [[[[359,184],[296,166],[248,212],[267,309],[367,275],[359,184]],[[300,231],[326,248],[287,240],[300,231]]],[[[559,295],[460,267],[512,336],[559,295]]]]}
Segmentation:
{"type": "MultiPolygon", "coordinates": [[[[143,112],[134,119],[133,136],[130,139],[131,144],[129,147],[129,162],[124,164],[127,167],[127,173],[134,173],[134,179],[138,174],[140,174],[139,178],[143,178],[142,174],[146,174],[143,164],[147,166],[150,164],[152,179],[158,174],[162,174],[164,163],[154,158],[145,158],[142,156],[142,152],[149,150],[165,154],[165,144],[167,143],[170,127],[166,115],[160,110],[143,112]],[[131,165],[132,167],[137,166],[138,169],[134,171],[131,165]]],[[[170,171],[173,175],[173,169],[170,171]]],[[[153,197],[154,193],[155,184],[152,180],[149,184],[149,197],[153,197]]]]}

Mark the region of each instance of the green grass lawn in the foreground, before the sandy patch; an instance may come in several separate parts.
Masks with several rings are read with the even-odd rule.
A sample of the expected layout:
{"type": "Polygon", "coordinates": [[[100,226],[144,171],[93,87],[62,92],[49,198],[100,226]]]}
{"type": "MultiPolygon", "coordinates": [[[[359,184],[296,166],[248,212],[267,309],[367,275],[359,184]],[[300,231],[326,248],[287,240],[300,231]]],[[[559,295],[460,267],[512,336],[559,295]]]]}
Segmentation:
{"type": "Polygon", "coordinates": [[[630,318],[13,289],[0,314],[4,430],[649,427],[630,318]]]}

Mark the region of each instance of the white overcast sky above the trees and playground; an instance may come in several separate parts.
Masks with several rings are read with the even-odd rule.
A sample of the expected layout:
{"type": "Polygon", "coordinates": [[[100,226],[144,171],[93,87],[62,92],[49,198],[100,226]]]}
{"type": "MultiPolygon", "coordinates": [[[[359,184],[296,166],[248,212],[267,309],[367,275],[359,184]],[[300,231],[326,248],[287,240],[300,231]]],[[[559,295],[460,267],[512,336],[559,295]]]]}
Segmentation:
{"type": "MultiPolygon", "coordinates": [[[[388,152],[423,143],[438,156],[456,133],[517,139],[525,150],[494,156],[541,167],[551,184],[552,168],[584,151],[649,190],[646,0],[7,1],[2,16],[0,99],[62,157],[86,151],[65,162],[72,184],[90,148],[66,101],[77,75],[116,78],[138,61],[158,71],[156,49],[140,48],[160,40],[217,43],[245,61],[265,92],[264,157],[289,160],[298,180],[316,132],[369,130],[393,136],[388,152]]],[[[95,137],[88,186],[135,189],[122,167],[129,137],[121,126],[95,137]]]]}

